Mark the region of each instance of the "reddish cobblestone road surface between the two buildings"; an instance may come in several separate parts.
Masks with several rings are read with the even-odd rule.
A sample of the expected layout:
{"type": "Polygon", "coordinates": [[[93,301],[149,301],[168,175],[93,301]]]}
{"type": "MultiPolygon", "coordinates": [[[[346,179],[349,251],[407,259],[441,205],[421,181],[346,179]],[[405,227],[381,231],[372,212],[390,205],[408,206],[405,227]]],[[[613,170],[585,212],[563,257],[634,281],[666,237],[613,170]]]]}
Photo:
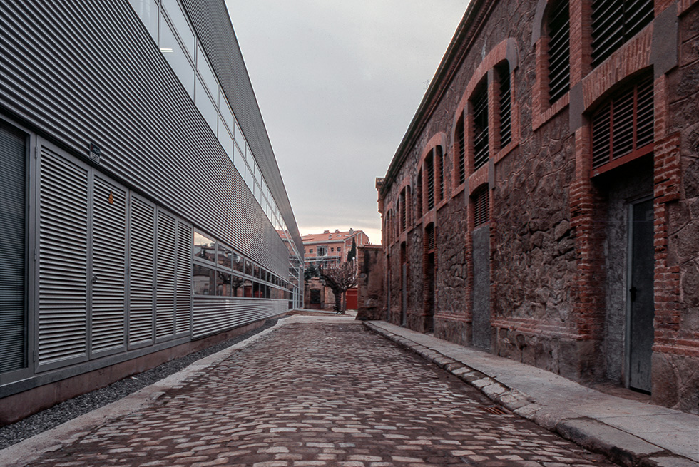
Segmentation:
{"type": "Polygon", "coordinates": [[[287,324],[34,466],[611,466],[359,324],[287,324]]]}

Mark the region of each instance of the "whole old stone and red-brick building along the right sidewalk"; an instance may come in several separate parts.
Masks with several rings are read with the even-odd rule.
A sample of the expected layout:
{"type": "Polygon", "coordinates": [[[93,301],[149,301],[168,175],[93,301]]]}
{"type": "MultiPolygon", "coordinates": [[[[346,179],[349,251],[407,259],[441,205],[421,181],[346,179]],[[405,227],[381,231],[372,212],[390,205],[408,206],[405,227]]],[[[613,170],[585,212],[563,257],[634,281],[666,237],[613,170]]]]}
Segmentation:
{"type": "Polygon", "coordinates": [[[699,2],[473,0],[383,179],[389,319],[699,412],[699,2]]]}

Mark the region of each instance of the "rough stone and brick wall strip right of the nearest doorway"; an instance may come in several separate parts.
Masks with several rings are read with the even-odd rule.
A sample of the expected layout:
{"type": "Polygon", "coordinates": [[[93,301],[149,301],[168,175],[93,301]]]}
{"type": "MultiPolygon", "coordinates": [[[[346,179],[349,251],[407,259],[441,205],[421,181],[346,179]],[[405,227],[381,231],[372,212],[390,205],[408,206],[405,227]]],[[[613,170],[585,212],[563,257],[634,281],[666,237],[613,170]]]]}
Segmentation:
{"type": "Polygon", "coordinates": [[[678,271],[678,300],[673,325],[655,332],[653,400],[699,413],[699,3],[680,16],[679,29],[679,67],[668,79],[668,133],[677,136],[680,162],[677,200],[668,203],[668,262],[678,271]]]}

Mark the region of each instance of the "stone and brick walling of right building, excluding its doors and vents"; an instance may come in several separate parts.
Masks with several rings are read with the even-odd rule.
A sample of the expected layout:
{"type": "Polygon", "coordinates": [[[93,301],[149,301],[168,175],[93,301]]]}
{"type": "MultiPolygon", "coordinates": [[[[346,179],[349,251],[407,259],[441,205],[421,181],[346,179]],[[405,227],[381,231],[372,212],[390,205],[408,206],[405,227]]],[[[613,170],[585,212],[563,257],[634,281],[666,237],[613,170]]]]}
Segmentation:
{"type": "MultiPolygon", "coordinates": [[[[459,55],[457,67],[449,66],[456,71],[444,85],[446,91],[427,93],[422,108],[433,110],[416,120],[421,122],[419,128],[409,135],[414,143],[400,149],[404,162],[392,180],[387,178],[381,202],[389,205],[397,200],[404,180],[414,186],[435,135],[446,135],[444,167],[447,172],[454,170],[454,126],[461,116],[466,120],[466,183],[454,186],[456,174],[446,173],[444,202],[422,217],[415,216],[401,237],[409,263],[407,326],[424,329],[422,233],[425,225],[434,222],[438,235],[434,332],[437,337],[469,344],[474,228],[469,197],[487,183],[491,190],[491,351],[576,380],[605,376],[607,363],[601,353],[608,348],[605,320],[611,305],[606,297],[610,287],[606,255],[611,253],[606,251],[604,226],[609,184],[623,177],[624,169],[611,177],[591,177],[589,116],[619,83],[627,78],[633,81],[636,73],[653,71],[653,164],[637,166],[647,170],[648,180],[652,168],[655,180],[653,401],[697,412],[699,2],[656,0],[655,12],[663,13],[665,26],[668,8],[678,14],[678,66],[665,66],[668,61],[661,60],[662,69],[653,60],[667,57],[662,47],[668,42],[654,31],[655,23],[592,69],[591,3],[571,0],[571,92],[553,106],[543,56],[546,36],[532,42],[532,31],[541,28],[534,24],[534,1],[487,3],[489,14],[482,16],[486,22],[473,25],[468,50],[459,55]],[[469,98],[496,63],[508,53],[513,56],[513,50],[513,143],[497,148],[496,133],[491,133],[491,160],[474,173],[469,98]]],[[[496,88],[491,85],[490,91],[492,113],[496,88]]],[[[392,268],[391,320],[397,324],[401,319],[399,249],[397,240],[384,247],[392,268]]]]}

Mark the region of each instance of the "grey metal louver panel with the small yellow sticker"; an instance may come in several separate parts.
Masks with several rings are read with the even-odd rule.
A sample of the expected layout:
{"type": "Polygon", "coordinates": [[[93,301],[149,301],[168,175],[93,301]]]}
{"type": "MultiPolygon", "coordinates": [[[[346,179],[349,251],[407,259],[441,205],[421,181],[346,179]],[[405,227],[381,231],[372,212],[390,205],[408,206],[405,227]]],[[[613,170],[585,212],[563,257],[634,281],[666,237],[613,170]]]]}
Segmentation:
{"type": "Polygon", "coordinates": [[[93,188],[93,353],[126,343],[126,192],[96,176],[93,188]]]}

